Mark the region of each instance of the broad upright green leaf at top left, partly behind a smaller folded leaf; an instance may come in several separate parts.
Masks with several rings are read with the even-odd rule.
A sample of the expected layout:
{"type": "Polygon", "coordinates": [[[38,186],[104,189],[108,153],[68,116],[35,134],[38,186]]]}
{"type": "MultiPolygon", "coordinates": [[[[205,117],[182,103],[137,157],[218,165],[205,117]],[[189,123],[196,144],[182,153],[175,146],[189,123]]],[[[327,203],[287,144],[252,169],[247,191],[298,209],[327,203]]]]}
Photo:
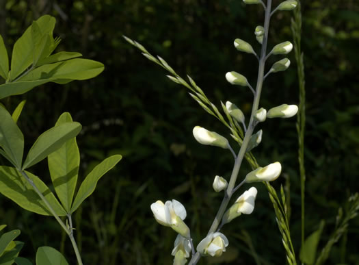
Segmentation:
{"type": "MultiPolygon", "coordinates": [[[[36,23],[40,28],[40,33],[35,38],[41,38],[42,34],[51,33],[52,35],[53,28],[55,27],[55,18],[49,15],[41,16],[36,23]]],[[[23,73],[23,71],[25,71],[25,69],[33,62],[34,46],[31,29],[32,25],[25,30],[23,36],[16,40],[14,44],[14,49],[12,50],[10,81],[13,81],[18,75],[23,73]]]]}

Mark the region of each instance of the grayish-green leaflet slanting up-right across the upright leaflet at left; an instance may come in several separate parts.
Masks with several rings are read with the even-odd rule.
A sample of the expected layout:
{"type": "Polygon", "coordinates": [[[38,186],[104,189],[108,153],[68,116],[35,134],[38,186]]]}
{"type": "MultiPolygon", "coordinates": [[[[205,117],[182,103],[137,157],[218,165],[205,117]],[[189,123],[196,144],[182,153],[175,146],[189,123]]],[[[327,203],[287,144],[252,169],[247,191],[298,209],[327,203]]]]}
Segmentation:
{"type": "Polygon", "coordinates": [[[80,123],[63,123],[41,134],[27,154],[23,170],[40,162],[81,131],[80,123]]]}

